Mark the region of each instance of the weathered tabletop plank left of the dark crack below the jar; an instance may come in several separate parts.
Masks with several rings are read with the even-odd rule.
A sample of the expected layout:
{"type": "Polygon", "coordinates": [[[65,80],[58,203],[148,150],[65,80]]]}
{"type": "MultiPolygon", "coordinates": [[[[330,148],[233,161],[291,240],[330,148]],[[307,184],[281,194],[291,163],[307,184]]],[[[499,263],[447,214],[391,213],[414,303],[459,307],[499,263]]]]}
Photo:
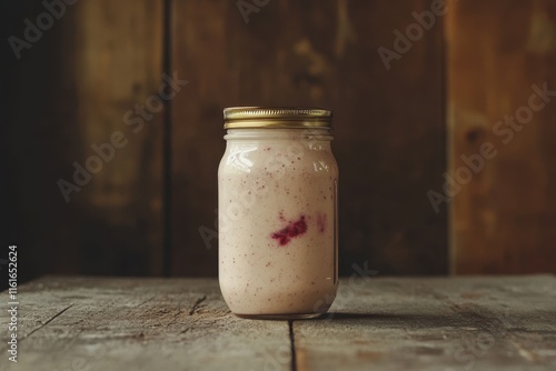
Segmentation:
{"type": "MultiPolygon", "coordinates": [[[[21,287],[19,297],[19,359],[8,361],[2,340],[2,370],[289,370],[291,363],[288,323],[234,317],[216,280],[47,278],[21,287]]],[[[2,314],[2,333],[7,323],[2,314]]]]}

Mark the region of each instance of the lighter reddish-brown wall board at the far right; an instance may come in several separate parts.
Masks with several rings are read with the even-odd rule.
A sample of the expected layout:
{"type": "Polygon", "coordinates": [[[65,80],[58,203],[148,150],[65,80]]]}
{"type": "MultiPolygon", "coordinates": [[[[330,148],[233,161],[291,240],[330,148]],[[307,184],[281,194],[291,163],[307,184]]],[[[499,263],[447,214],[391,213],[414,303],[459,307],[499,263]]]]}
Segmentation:
{"type": "Polygon", "coordinates": [[[451,271],[555,272],[556,7],[548,0],[451,7],[449,173],[468,167],[461,156],[480,153],[485,142],[496,151],[451,202],[451,271]],[[529,109],[532,86],[544,84],[553,96],[534,98],[542,108],[529,109]],[[504,123],[516,116],[515,127],[504,123]]]}

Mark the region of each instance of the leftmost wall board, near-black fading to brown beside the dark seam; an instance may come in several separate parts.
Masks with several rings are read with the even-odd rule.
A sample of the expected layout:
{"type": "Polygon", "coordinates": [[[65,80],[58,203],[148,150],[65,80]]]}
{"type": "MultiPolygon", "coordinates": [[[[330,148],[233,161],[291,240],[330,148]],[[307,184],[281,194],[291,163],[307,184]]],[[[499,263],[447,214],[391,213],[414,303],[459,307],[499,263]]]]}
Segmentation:
{"type": "MultiPolygon", "coordinates": [[[[67,6],[13,63],[8,152],[14,213],[8,225],[22,278],[161,273],[161,113],[137,133],[137,124],[125,122],[162,81],[161,4],[67,6]],[[77,184],[73,163],[89,166],[82,171],[90,179],[81,174],[77,184]],[[64,198],[60,179],[80,191],[64,198]]],[[[18,22],[44,12],[37,2],[18,22]]],[[[22,28],[13,32],[23,36],[22,28]]]]}

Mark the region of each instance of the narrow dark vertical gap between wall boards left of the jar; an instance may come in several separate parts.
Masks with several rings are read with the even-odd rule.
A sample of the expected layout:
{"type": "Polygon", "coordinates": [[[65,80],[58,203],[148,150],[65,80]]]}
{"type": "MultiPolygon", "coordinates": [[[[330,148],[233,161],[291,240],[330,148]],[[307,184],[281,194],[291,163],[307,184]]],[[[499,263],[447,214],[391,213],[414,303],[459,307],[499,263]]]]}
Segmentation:
{"type": "MultiPolygon", "coordinates": [[[[171,71],[171,31],[172,31],[172,0],[163,0],[163,71],[166,76],[172,76],[171,71]]],[[[171,147],[171,100],[165,101],[163,120],[163,242],[162,242],[162,272],[165,277],[171,275],[171,188],[172,188],[172,147],[171,147]]]]}

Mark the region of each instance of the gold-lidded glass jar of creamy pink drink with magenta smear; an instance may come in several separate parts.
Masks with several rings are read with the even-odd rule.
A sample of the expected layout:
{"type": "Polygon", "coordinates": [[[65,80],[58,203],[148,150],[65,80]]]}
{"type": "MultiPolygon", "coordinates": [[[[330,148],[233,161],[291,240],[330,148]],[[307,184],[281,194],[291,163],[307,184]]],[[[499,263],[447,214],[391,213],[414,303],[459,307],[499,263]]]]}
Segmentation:
{"type": "Polygon", "coordinates": [[[219,282],[244,318],[326,312],[338,285],[331,112],[238,107],[218,169],[219,282]]]}

